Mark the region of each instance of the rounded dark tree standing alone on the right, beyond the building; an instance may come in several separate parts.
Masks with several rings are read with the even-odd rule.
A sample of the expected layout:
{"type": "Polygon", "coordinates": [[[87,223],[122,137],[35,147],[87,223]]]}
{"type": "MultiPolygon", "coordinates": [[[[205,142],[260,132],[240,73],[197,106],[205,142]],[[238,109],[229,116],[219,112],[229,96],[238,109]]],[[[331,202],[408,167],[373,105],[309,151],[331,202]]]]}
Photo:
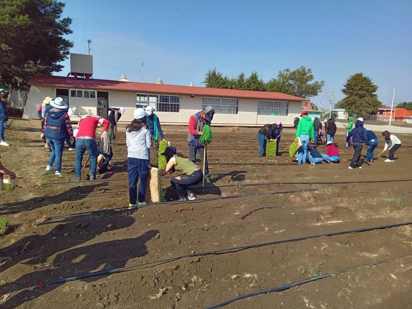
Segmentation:
{"type": "Polygon", "coordinates": [[[345,108],[350,114],[376,114],[382,103],[375,94],[378,86],[373,84],[369,77],[356,73],[346,80],[343,87],[342,92],[346,97],[336,104],[338,108],[345,108]]]}

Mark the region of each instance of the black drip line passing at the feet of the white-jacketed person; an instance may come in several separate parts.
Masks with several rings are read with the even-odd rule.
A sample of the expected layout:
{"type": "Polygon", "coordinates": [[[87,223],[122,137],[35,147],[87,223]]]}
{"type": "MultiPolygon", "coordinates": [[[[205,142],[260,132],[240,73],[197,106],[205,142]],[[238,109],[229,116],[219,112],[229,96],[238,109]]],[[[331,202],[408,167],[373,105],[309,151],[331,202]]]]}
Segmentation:
{"type": "MultiPolygon", "coordinates": [[[[411,181],[411,180],[399,180],[399,181],[411,181]]],[[[395,181],[393,181],[393,182],[395,182],[395,181]]],[[[357,185],[357,186],[366,186],[366,185],[369,185],[369,184],[370,183],[365,183],[365,184],[360,184],[360,185],[357,185]]],[[[317,187],[317,188],[310,188],[310,189],[295,189],[295,190],[287,190],[287,191],[272,191],[272,192],[250,193],[250,194],[231,195],[231,196],[226,196],[226,197],[204,198],[204,199],[197,199],[197,200],[185,201],[185,202],[178,202],[178,201],[156,202],[156,203],[150,203],[150,204],[145,205],[145,206],[141,206],[139,208],[152,206],[152,205],[189,204],[189,203],[193,204],[193,203],[202,203],[202,202],[207,202],[207,201],[247,198],[247,197],[264,196],[264,195],[278,195],[278,194],[288,194],[288,193],[298,193],[298,192],[311,192],[311,191],[317,191],[317,190],[320,190],[320,191],[321,190],[336,190],[336,189],[342,189],[342,188],[347,188],[347,187],[351,187],[351,186],[347,185],[347,186],[338,186],[338,187],[317,187]]],[[[119,193],[119,192],[116,192],[116,193],[119,193]]],[[[77,212],[76,214],[71,214],[71,213],[60,214],[60,215],[47,217],[47,220],[65,218],[65,217],[71,217],[71,216],[77,216],[77,215],[83,215],[83,214],[90,214],[90,213],[101,212],[101,211],[111,211],[111,210],[117,210],[117,209],[123,209],[123,208],[126,208],[126,207],[96,209],[96,210],[90,210],[90,211],[85,211],[85,212],[77,212]]]]}

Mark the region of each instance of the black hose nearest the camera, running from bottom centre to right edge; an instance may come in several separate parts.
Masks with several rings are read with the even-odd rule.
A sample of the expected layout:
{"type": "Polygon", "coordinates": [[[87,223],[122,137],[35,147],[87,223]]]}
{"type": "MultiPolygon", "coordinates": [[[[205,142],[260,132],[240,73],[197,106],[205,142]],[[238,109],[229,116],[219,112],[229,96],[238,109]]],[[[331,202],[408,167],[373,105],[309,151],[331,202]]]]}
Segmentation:
{"type": "Polygon", "coordinates": [[[220,307],[229,305],[231,303],[234,303],[234,302],[237,302],[237,301],[240,301],[240,300],[244,300],[246,298],[250,298],[250,297],[254,297],[254,296],[258,296],[258,295],[263,295],[263,294],[269,294],[269,293],[272,293],[272,292],[285,291],[285,290],[288,290],[290,288],[299,286],[301,284],[316,281],[316,280],[331,277],[331,276],[335,276],[336,274],[341,274],[341,273],[345,273],[345,272],[348,272],[348,271],[351,271],[351,270],[364,268],[364,267],[368,267],[368,266],[373,266],[373,265],[378,265],[378,264],[382,264],[382,263],[386,263],[386,262],[390,262],[390,261],[395,261],[395,260],[399,260],[399,259],[404,259],[404,258],[409,258],[409,257],[412,257],[412,255],[404,255],[404,256],[399,256],[399,257],[395,257],[395,258],[390,258],[390,259],[386,259],[386,260],[381,260],[381,261],[377,261],[377,262],[372,262],[372,263],[368,263],[368,264],[363,264],[363,265],[358,265],[358,266],[342,269],[342,270],[339,270],[339,271],[334,272],[334,273],[327,273],[327,274],[324,274],[324,275],[311,277],[311,278],[308,278],[308,279],[303,279],[303,280],[292,282],[290,284],[286,284],[284,286],[280,286],[280,287],[277,287],[277,288],[272,288],[272,289],[268,289],[268,290],[262,290],[262,291],[258,291],[258,292],[254,292],[254,293],[249,293],[249,294],[246,294],[246,295],[241,295],[241,296],[233,298],[231,300],[228,300],[228,301],[225,301],[225,302],[207,307],[206,309],[220,308],[220,307]]]}

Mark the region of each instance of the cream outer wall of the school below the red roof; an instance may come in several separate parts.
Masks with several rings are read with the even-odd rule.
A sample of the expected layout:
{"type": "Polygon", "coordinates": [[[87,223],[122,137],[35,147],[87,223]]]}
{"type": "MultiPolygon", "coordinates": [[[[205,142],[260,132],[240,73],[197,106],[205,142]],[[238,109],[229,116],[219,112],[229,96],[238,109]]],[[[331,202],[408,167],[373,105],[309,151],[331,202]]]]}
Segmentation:
{"type": "MultiPolygon", "coordinates": [[[[91,89],[93,90],[93,89],[91,89]]],[[[168,94],[165,94],[168,95],[168,94]]],[[[169,94],[175,95],[176,94],[169,94]]],[[[45,97],[56,96],[52,87],[37,87],[30,88],[27,104],[24,108],[23,117],[37,119],[37,108],[42,103],[45,97]]],[[[133,119],[133,111],[136,108],[136,93],[128,91],[113,91],[109,92],[109,106],[125,107],[126,112],[121,117],[121,122],[130,122],[133,119]]],[[[266,123],[274,123],[276,120],[282,121],[283,124],[293,124],[293,119],[299,117],[302,112],[301,102],[289,102],[289,112],[287,116],[271,116],[257,115],[257,99],[233,98],[239,100],[237,114],[218,114],[213,117],[214,125],[263,125],[266,123]]],[[[96,99],[80,99],[70,98],[70,107],[77,107],[82,113],[97,114],[97,98],[96,99]]],[[[189,95],[180,95],[180,111],[179,112],[161,112],[156,111],[162,123],[170,124],[187,124],[189,118],[195,112],[202,109],[202,96],[191,98],[189,95]]]]}

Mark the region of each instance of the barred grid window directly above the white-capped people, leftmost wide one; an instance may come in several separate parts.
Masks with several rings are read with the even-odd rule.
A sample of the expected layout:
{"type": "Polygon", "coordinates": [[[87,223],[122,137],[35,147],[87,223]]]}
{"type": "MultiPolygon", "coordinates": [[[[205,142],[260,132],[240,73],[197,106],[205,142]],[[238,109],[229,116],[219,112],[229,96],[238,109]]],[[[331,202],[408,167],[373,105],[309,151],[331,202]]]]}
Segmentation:
{"type": "Polygon", "coordinates": [[[152,106],[156,111],[179,112],[180,97],[168,95],[136,95],[136,107],[152,106]]]}

